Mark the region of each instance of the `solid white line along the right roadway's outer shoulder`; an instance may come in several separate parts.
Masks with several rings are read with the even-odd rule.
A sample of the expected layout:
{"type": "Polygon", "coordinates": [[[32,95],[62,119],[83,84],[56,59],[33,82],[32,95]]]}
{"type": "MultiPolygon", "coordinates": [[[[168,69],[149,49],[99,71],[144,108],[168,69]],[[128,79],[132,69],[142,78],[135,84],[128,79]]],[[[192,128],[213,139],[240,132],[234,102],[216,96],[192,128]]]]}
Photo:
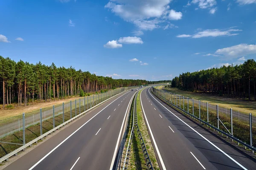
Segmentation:
{"type": "MultiPolygon", "coordinates": [[[[149,89],[148,89],[149,92],[149,89]]],[[[149,92],[149,94],[152,96],[152,94],[149,92]]],[[[154,98],[154,96],[152,96],[154,98]]],[[[154,98],[155,99],[155,98],[154,98]]],[[[157,102],[158,100],[155,99],[157,102]]],[[[158,102],[160,105],[162,105],[160,102],[158,102]]],[[[162,105],[167,111],[169,111],[164,105],[162,105]]],[[[170,113],[172,113],[171,111],[169,111],[170,113]]],[[[178,116],[176,116],[174,113],[172,113],[175,117],[177,117],[177,119],[179,119],[181,122],[183,122],[185,125],[187,125],[190,129],[192,129],[195,133],[197,133],[199,136],[201,136],[202,138],[204,138],[204,140],[206,140],[207,142],[209,142],[210,144],[212,144],[212,146],[214,146],[216,149],[218,149],[219,151],[221,151],[225,156],[227,156],[229,159],[231,159],[232,161],[234,161],[237,165],[239,165],[241,168],[243,168],[244,170],[247,170],[243,165],[239,164],[238,161],[236,161],[235,159],[233,159],[231,156],[229,156],[227,153],[225,153],[223,150],[221,150],[220,148],[218,148],[215,144],[213,144],[211,141],[209,141],[207,138],[205,138],[203,135],[201,135],[198,131],[196,131],[195,129],[193,129],[191,126],[189,126],[188,124],[186,124],[186,122],[184,122],[183,120],[181,120],[178,116]]]]}

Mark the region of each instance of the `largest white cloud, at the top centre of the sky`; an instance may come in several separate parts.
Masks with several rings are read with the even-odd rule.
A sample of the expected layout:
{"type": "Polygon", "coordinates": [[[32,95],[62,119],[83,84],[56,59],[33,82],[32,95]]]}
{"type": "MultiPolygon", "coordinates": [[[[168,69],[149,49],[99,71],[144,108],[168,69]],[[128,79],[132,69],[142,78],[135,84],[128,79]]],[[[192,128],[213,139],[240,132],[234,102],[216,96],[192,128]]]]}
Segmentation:
{"type": "MultiPolygon", "coordinates": [[[[134,23],[140,30],[153,30],[162,28],[170,14],[172,0],[109,0],[105,8],[121,17],[123,20],[134,23]]],[[[176,20],[181,18],[177,12],[176,20]]],[[[171,14],[172,16],[172,14],[171,14]]],[[[172,19],[172,17],[171,17],[172,19]]]]}

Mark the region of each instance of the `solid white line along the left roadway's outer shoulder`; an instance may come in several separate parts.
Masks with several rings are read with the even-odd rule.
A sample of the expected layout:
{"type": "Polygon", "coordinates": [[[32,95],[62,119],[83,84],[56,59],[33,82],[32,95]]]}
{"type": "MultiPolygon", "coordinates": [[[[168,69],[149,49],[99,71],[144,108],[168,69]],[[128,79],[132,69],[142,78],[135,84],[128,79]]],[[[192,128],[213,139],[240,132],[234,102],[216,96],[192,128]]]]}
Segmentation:
{"type": "MultiPolygon", "coordinates": [[[[128,93],[128,92],[127,92],[128,93]]],[[[126,93],[125,93],[126,94],[126,93]]],[[[123,95],[125,95],[123,94],[123,95]]],[[[122,95],[122,96],[123,96],[122,95]]],[[[119,99],[119,96],[117,99],[119,99]]],[[[117,99],[115,99],[113,102],[115,102],[117,99]]],[[[110,104],[108,104],[105,108],[107,108],[109,105],[111,105],[113,102],[111,102],[110,104]]],[[[34,167],[36,167],[41,161],[43,161],[47,156],[49,156],[49,154],[51,154],[54,150],[56,150],[59,146],[61,146],[61,144],[63,144],[67,139],[69,139],[71,136],[73,136],[73,134],[75,134],[79,129],[81,129],[84,125],[86,125],[88,122],[90,122],[91,119],[93,119],[95,116],[97,116],[99,113],[101,113],[105,108],[103,108],[101,111],[99,111],[96,115],[94,115],[92,118],[90,118],[87,122],[85,122],[83,125],[81,125],[76,131],[74,131],[70,136],[68,136],[66,139],[64,139],[60,144],[58,144],[55,148],[53,148],[49,153],[47,153],[42,159],[40,159],[37,163],[35,163],[31,168],[29,168],[29,170],[32,170],[34,167]]]]}

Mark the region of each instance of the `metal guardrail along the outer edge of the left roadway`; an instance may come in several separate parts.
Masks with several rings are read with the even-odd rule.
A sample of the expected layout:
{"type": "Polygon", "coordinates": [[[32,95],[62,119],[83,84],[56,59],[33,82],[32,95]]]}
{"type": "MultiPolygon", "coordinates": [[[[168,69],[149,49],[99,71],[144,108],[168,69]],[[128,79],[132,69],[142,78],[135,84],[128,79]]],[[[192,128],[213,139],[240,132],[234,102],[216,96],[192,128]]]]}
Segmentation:
{"type": "MultiPolygon", "coordinates": [[[[122,92],[119,93],[119,94],[122,94],[123,92],[125,92],[125,91],[122,91],[122,92]]],[[[117,95],[119,95],[119,94],[116,94],[115,96],[117,96],[117,95]]],[[[32,144],[37,143],[39,140],[42,140],[44,137],[47,137],[49,134],[52,134],[52,132],[55,132],[55,131],[58,130],[59,128],[61,128],[61,127],[65,126],[65,125],[67,125],[69,122],[72,122],[74,119],[79,118],[79,117],[82,116],[84,113],[87,113],[87,112],[93,110],[94,108],[98,107],[98,106],[101,105],[102,103],[105,103],[106,101],[112,99],[112,98],[115,97],[115,96],[112,96],[112,97],[106,99],[105,101],[100,102],[99,104],[93,106],[92,108],[87,109],[86,111],[84,111],[84,112],[78,114],[77,116],[75,116],[75,117],[73,117],[73,118],[67,120],[66,122],[62,123],[61,125],[58,125],[57,127],[55,127],[55,128],[53,128],[53,129],[47,131],[46,133],[42,134],[41,136],[38,136],[38,137],[35,138],[34,140],[32,140],[32,141],[30,141],[30,142],[24,144],[23,146],[17,148],[16,150],[12,151],[11,153],[6,154],[6,155],[3,156],[2,158],[0,158],[0,163],[2,163],[3,161],[9,161],[9,158],[10,158],[10,157],[12,157],[12,156],[14,156],[14,155],[17,156],[17,154],[18,154],[20,151],[22,151],[22,150],[24,151],[24,150],[26,149],[26,147],[31,147],[32,144]]]]}

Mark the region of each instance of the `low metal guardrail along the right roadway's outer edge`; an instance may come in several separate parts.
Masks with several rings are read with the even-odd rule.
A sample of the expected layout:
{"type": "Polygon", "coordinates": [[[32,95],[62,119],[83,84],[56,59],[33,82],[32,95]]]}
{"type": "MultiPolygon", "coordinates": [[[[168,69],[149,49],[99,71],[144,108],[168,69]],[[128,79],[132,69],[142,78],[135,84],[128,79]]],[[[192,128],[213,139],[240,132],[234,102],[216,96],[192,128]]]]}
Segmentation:
{"type": "MultiPolygon", "coordinates": [[[[157,90],[159,90],[159,89],[157,89],[157,90]]],[[[161,91],[161,90],[159,90],[159,91],[161,91]]],[[[225,136],[229,137],[230,139],[232,139],[232,140],[238,142],[239,144],[244,145],[244,147],[247,147],[247,148],[249,148],[250,150],[252,150],[253,153],[256,152],[256,148],[255,148],[255,147],[250,146],[249,144],[242,142],[241,140],[239,140],[239,139],[235,138],[234,136],[232,136],[232,135],[230,135],[230,134],[224,132],[223,130],[218,129],[218,127],[215,127],[215,126],[213,126],[213,125],[210,125],[209,123],[205,122],[204,120],[199,119],[198,117],[196,117],[196,116],[192,115],[191,113],[189,113],[189,112],[183,110],[182,108],[177,107],[176,105],[174,105],[174,104],[172,104],[171,102],[167,101],[167,100],[164,99],[163,97],[157,95],[157,94],[154,92],[154,88],[153,88],[153,87],[151,88],[151,92],[152,92],[155,96],[157,96],[158,98],[160,98],[161,100],[163,100],[164,102],[166,102],[166,103],[168,103],[169,105],[171,105],[172,107],[174,107],[174,108],[176,108],[176,109],[178,109],[178,110],[180,110],[180,111],[182,111],[182,112],[184,112],[184,113],[186,113],[186,114],[192,116],[193,118],[197,119],[198,121],[200,121],[200,122],[204,123],[205,125],[207,125],[207,126],[213,128],[214,130],[216,130],[216,131],[222,133],[223,135],[225,135],[225,136]]],[[[250,138],[252,138],[252,136],[250,136],[250,138]]]]}

